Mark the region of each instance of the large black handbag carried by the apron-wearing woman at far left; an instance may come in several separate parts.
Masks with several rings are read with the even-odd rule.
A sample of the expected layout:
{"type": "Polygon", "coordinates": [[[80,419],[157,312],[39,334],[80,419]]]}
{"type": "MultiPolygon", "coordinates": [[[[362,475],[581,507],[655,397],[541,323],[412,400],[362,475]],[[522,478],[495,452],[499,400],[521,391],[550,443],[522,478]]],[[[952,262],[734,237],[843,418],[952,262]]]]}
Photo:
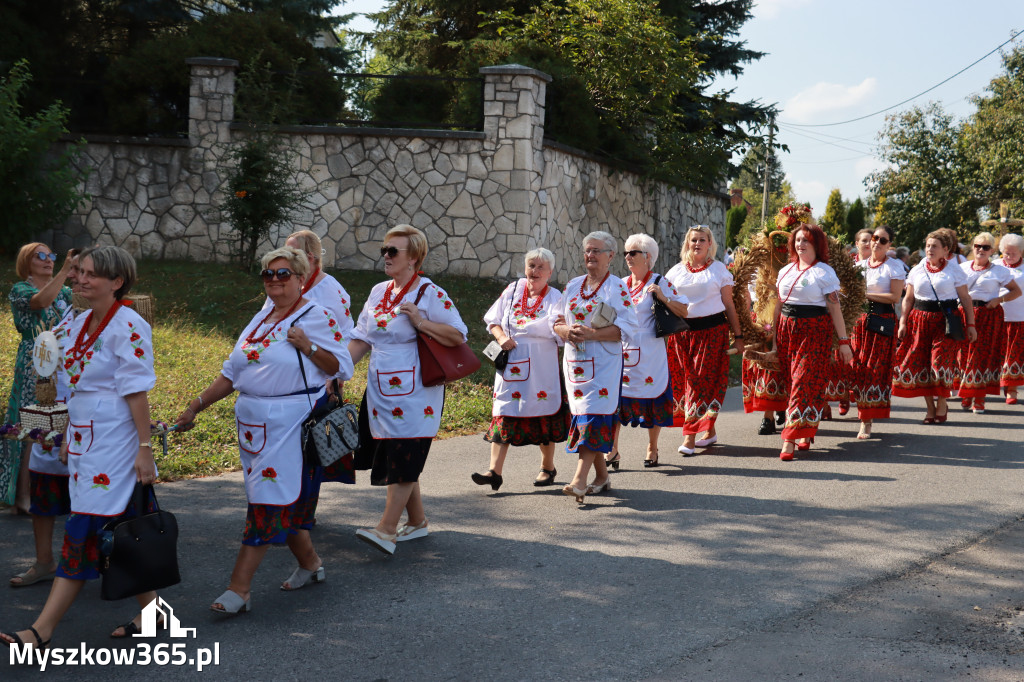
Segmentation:
{"type": "Polygon", "coordinates": [[[108,601],[134,597],[181,582],[178,572],[178,522],[174,514],[145,511],[146,493],[153,485],[135,483],[132,499],[136,516],[117,518],[103,526],[99,596],[108,601]]]}

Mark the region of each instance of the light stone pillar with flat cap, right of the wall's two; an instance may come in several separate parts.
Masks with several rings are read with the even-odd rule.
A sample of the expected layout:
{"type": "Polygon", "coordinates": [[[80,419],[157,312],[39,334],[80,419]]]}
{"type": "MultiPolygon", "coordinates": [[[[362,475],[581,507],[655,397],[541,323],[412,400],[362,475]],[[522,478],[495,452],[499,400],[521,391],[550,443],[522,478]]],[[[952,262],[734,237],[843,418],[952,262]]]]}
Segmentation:
{"type": "MultiPolygon", "coordinates": [[[[551,76],[519,65],[485,67],[483,76],[483,163],[487,176],[483,196],[500,197],[492,210],[499,252],[509,258],[499,278],[522,271],[527,251],[547,243],[541,210],[547,201],[544,175],[544,104],[551,76]]],[[[492,274],[492,273],[486,273],[492,274]]]]}

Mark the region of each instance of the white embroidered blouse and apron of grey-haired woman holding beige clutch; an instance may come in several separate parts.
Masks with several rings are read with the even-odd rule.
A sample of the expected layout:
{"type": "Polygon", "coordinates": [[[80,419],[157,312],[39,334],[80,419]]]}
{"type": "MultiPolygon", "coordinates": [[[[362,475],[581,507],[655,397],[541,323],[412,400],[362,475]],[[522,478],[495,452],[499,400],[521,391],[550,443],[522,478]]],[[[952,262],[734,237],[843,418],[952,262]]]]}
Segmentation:
{"type": "Polygon", "coordinates": [[[592,298],[584,299],[580,295],[580,285],[585,276],[577,278],[565,287],[562,297],[565,319],[569,325],[589,327],[597,304],[607,303],[615,310],[614,325],[622,333],[622,342],[587,341],[582,348],[565,344],[562,371],[569,394],[569,410],[573,415],[613,415],[618,410],[623,382],[623,343],[636,343],[636,315],[622,280],[609,275],[592,298]]]}

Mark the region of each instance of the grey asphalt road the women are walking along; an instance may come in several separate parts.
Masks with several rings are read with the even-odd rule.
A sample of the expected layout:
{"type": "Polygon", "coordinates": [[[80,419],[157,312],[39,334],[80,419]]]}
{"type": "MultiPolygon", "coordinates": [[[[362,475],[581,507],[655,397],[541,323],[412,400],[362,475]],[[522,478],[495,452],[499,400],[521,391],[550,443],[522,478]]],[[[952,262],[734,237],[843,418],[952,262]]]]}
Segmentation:
{"type": "MultiPolygon", "coordinates": [[[[422,477],[429,538],[375,552],[353,532],[376,522],[383,489],[365,475],[329,484],[313,531],[327,583],[281,592],[293,563],[272,549],[254,610],[232,619],[208,605],[238,551],[241,476],[164,484],[183,582],[162,596],[198,637],[146,641],[184,642],[189,655],[219,646],[216,667],[159,673],[174,679],[1024,680],[1022,412],[992,400],[986,415],[955,410],[923,426],[921,401],[897,400],[876,438],[855,440],[851,415],[783,463],[778,436],[758,436],[759,417],[730,389],[721,444],[683,458],[667,429],[664,465],[646,470],[646,436],[628,430],[612,489],[580,507],[531,485],[536,449],[513,450],[492,493],[469,479],[486,468],[478,435],[438,441],[422,477]]],[[[574,460],[556,461],[567,481],[574,460]]],[[[26,520],[0,518],[4,576],[31,548],[26,520]]],[[[0,589],[0,627],[27,626],[46,593],[0,589]]],[[[111,646],[133,608],[90,584],[54,646],[111,646]]],[[[6,652],[0,671],[41,677],[8,668],[6,652]]]]}

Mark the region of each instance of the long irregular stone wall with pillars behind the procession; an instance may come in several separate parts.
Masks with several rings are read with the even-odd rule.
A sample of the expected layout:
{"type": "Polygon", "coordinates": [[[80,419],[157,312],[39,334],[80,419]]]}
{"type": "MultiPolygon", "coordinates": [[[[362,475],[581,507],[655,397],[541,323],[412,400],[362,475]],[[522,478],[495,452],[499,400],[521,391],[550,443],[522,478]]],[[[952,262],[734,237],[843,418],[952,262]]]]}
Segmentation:
{"type": "MultiPolygon", "coordinates": [[[[230,59],[195,58],[188,140],[93,138],[80,158],[91,199],[59,233],[58,249],[89,242],[124,246],[146,258],[226,260],[236,231],[219,206],[233,121],[230,59]]],[[[545,143],[546,74],[488,67],[482,132],[283,127],[295,154],[306,208],[271,231],[263,248],[294,229],[324,240],[329,266],[373,269],[387,229],[408,222],[430,243],[427,272],[507,279],[538,246],[558,257],[555,280],[582,271],[580,241],[604,229],[621,241],[651,235],[659,267],[676,262],[693,223],[724,235],[728,197],[644,183],[596,158],[545,143]]]]}

